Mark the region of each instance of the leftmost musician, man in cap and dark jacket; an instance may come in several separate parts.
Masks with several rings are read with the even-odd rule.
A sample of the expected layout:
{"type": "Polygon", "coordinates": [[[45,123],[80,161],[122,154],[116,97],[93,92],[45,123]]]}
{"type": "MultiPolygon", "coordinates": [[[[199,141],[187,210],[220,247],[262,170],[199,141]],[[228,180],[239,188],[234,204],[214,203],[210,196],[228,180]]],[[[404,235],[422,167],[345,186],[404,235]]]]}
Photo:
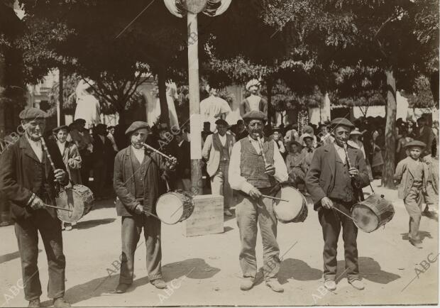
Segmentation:
{"type": "Polygon", "coordinates": [[[60,151],[42,135],[47,114],[36,108],[21,111],[23,135],[0,157],[0,190],[11,202],[23,287],[29,307],[40,307],[41,284],[38,274],[38,231],[48,258],[48,297],[55,307],[70,307],[65,294],[65,255],[62,253],[61,223],[55,209],[55,182],[67,185],[68,177],[60,151]],[[50,157],[55,165],[50,165],[50,157]]]}

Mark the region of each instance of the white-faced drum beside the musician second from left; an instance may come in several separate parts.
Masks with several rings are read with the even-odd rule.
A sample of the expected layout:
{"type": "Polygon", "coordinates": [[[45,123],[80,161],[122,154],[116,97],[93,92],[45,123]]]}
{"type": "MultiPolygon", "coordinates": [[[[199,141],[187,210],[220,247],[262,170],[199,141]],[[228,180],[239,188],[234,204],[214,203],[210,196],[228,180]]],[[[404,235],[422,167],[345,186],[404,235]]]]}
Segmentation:
{"type": "Polygon", "coordinates": [[[167,192],[156,202],[156,214],[165,224],[177,224],[191,216],[194,211],[192,197],[183,191],[167,192]]]}

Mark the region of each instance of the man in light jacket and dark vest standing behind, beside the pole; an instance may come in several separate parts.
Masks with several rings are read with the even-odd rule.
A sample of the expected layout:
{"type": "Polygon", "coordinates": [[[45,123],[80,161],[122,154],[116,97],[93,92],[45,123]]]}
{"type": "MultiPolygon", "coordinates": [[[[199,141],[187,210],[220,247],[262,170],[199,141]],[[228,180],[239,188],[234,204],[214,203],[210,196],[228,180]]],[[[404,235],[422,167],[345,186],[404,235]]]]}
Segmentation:
{"type": "Polygon", "coordinates": [[[232,216],[229,208],[233,203],[232,189],[229,185],[229,161],[235,138],[229,133],[228,122],[216,121],[217,132],[209,135],[205,141],[202,156],[207,161],[207,172],[211,177],[212,194],[220,194],[223,199],[225,216],[232,216]]]}

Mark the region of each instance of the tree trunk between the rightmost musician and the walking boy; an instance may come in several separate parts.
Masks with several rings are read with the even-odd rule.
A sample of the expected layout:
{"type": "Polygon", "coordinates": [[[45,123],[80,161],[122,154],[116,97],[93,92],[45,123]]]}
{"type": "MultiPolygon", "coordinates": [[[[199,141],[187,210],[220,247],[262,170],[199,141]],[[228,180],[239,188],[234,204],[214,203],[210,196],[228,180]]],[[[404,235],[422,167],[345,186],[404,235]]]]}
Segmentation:
{"type": "Polygon", "coordinates": [[[392,68],[385,71],[387,76],[387,106],[385,125],[385,165],[383,168],[383,185],[387,188],[394,189],[394,170],[395,170],[395,123],[397,116],[397,101],[396,101],[396,79],[392,68]]]}

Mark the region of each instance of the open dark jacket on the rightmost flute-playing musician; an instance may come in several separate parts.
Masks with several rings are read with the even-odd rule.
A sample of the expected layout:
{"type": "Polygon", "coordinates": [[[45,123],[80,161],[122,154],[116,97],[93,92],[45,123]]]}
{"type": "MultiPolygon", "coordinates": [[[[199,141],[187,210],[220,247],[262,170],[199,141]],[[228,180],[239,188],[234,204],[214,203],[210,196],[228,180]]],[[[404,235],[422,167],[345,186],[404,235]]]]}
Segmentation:
{"type": "MultiPolygon", "coordinates": [[[[357,197],[360,197],[359,194],[362,194],[361,188],[369,185],[370,180],[362,151],[350,145],[348,145],[347,151],[351,166],[359,170],[359,175],[353,180],[356,186],[353,187],[356,198],[356,193],[358,194],[357,197]]],[[[334,188],[336,180],[336,155],[338,154],[333,144],[321,146],[314,152],[312,164],[307,172],[305,182],[307,191],[312,195],[315,210],[319,210],[321,199],[328,197],[334,188]]]]}

